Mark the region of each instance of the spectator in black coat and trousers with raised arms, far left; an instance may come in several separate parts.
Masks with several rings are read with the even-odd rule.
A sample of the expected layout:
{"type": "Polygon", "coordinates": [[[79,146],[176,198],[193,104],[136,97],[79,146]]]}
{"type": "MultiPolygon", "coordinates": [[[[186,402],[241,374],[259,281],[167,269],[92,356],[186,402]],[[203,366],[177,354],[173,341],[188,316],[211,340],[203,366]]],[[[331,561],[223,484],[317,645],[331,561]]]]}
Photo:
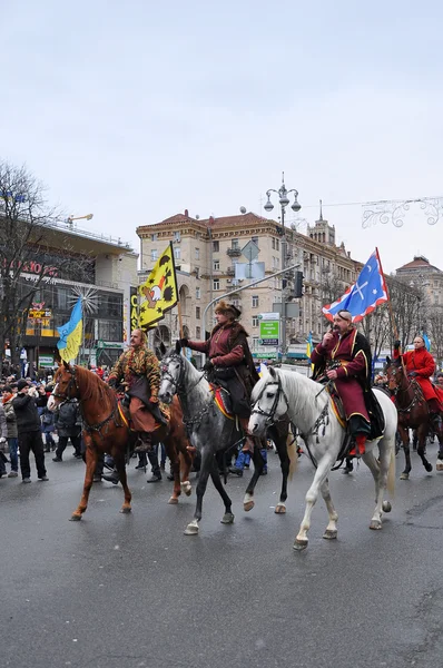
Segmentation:
{"type": "Polygon", "coordinates": [[[31,482],[29,453],[32,450],[36,458],[37,475],[39,480],[47,481],[41,424],[36,403],[37,391],[29,387],[23,379],[17,383],[17,387],[18,392],[12,400],[12,406],[17,416],[21,478],[23,482],[31,482]]]}

